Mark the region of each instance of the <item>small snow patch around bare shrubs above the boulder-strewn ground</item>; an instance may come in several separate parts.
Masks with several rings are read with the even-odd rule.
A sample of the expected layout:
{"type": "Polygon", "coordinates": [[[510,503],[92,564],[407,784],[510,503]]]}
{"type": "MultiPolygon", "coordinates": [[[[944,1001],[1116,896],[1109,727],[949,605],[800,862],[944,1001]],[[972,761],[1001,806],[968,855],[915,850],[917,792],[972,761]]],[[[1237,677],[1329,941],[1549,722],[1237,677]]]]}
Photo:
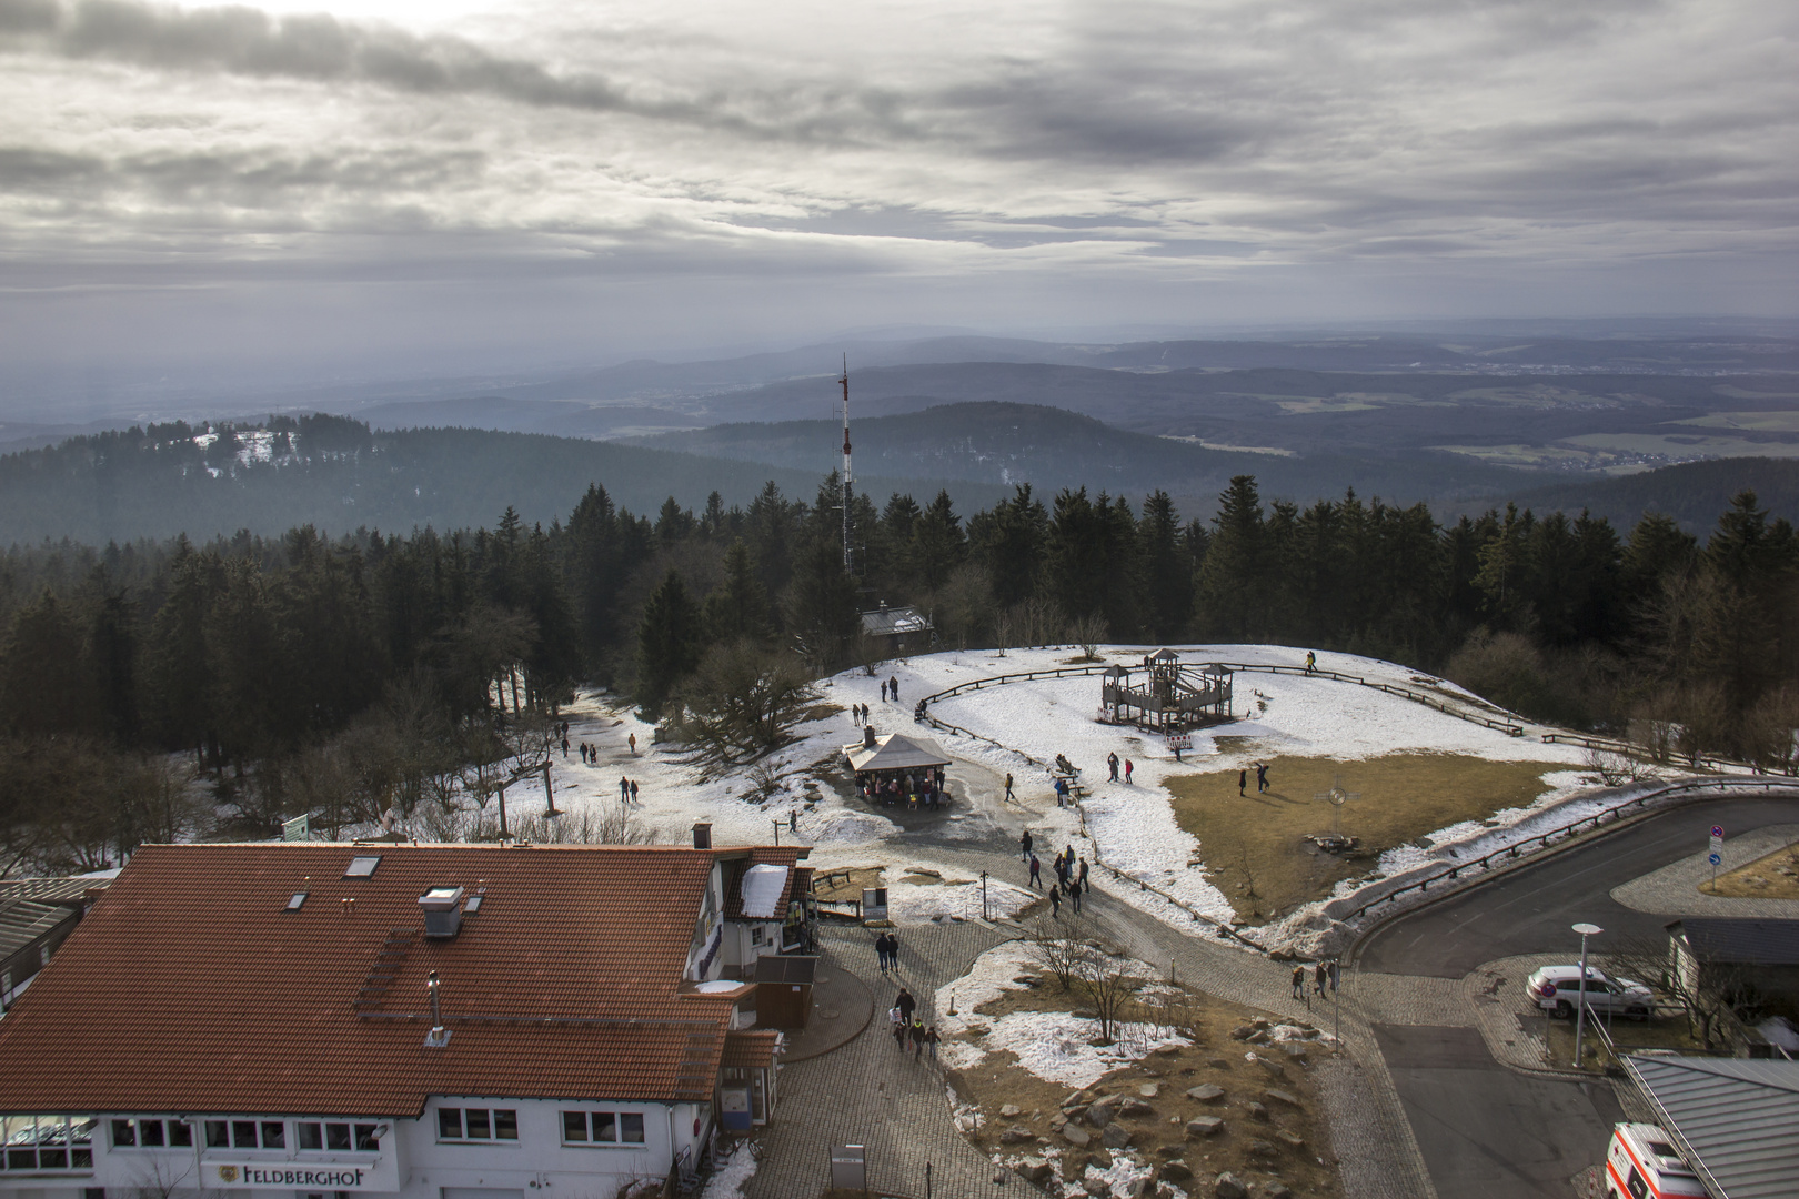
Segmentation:
{"type": "MultiPolygon", "coordinates": [[[[1155,976],[1155,971],[1142,962],[1123,965],[1144,978],[1155,976]]],[[[1072,1012],[1006,1012],[997,1017],[975,1012],[1007,990],[1024,990],[1024,983],[1013,980],[1038,969],[1029,946],[1006,942],[975,958],[968,974],[937,989],[937,1032],[943,1035],[937,1052],[946,1066],[968,1070],[979,1066],[989,1053],[1011,1050],[1018,1055],[1022,1070],[1045,1082],[1079,1089],[1099,1082],[1119,1066],[1141,1061],[1157,1046],[1191,1044],[1169,1030],[1133,1023],[1119,1025],[1112,1044],[1092,1044],[1099,1034],[1097,1021],[1072,1012]],[[964,1032],[975,1032],[977,1039],[962,1041],[964,1032]]]]}

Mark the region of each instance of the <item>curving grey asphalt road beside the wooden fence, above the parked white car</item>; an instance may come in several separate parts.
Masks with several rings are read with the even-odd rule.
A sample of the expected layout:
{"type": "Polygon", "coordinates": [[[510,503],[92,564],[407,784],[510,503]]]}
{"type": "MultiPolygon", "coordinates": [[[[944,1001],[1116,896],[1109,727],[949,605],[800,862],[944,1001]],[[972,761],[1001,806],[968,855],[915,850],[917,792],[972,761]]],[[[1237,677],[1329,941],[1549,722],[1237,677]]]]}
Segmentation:
{"type": "Polygon", "coordinates": [[[1659,938],[1673,917],[1624,908],[1612,899],[1612,888],[1702,852],[1713,825],[1738,836],[1794,822],[1799,822],[1799,798],[1745,796],[1677,807],[1398,917],[1362,946],[1360,967],[1461,978],[1495,958],[1562,947],[1574,955],[1580,938],[1569,926],[1576,920],[1592,920],[1607,931],[1607,940],[1659,938]]]}

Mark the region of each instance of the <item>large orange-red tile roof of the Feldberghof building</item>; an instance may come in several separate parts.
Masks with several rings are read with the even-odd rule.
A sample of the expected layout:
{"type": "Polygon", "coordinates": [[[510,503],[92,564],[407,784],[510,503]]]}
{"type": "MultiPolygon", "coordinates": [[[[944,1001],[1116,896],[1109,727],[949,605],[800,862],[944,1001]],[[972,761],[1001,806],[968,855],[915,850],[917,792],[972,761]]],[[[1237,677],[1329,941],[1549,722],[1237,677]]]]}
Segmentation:
{"type": "Polygon", "coordinates": [[[0,1111],[705,1100],[732,1003],[678,989],[712,857],[675,845],[144,847],[0,1021],[0,1111]],[[345,879],[358,856],[381,863],[345,879]],[[432,886],[482,895],[452,940],[423,937],[417,899],[432,886]],[[286,911],[297,892],[306,902],[286,911]],[[444,1048],[423,1044],[430,971],[444,1048]]]}

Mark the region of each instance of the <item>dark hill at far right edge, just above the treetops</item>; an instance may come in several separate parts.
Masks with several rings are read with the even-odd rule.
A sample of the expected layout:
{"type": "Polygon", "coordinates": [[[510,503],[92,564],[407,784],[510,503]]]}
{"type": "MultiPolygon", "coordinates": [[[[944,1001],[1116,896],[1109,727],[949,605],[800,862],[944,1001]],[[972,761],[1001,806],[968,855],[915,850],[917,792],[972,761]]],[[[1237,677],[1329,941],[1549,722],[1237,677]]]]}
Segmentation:
{"type": "Polygon", "coordinates": [[[1770,516],[1799,523],[1799,462],[1792,458],[1713,458],[1659,471],[1594,478],[1518,493],[1520,507],[1538,512],[1589,509],[1628,530],[1644,512],[1666,512],[1687,532],[1704,534],[1743,489],[1754,491],[1770,516]]]}

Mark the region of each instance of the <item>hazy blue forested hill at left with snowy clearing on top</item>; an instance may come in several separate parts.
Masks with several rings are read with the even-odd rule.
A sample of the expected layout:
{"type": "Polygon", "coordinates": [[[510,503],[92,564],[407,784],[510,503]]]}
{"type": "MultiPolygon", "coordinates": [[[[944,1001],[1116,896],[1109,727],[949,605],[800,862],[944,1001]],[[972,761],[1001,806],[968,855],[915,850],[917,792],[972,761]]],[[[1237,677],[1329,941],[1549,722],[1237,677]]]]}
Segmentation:
{"type": "MultiPolygon", "coordinates": [[[[77,437],[0,457],[0,545],[45,537],[104,545],[178,532],[198,541],[239,528],[279,534],[302,523],[327,534],[446,530],[491,525],[507,505],[527,523],[549,525],[567,518],[592,482],[613,503],[651,516],[667,496],[691,509],[703,507],[712,491],[727,505],[748,503],[770,480],[810,503],[829,473],[567,437],[443,428],[371,433],[356,421],[324,421],[329,437],[293,435],[291,449],[270,449],[268,433],[252,433],[245,440],[254,449],[219,451],[187,426],[153,426],[135,437],[77,437]],[[255,460],[259,453],[270,460],[255,460]]],[[[925,498],[948,487],[962,511],[1006,494],[966,480],[869,478],[867,485],[882,498],[894,489],[925,498]]]]}

